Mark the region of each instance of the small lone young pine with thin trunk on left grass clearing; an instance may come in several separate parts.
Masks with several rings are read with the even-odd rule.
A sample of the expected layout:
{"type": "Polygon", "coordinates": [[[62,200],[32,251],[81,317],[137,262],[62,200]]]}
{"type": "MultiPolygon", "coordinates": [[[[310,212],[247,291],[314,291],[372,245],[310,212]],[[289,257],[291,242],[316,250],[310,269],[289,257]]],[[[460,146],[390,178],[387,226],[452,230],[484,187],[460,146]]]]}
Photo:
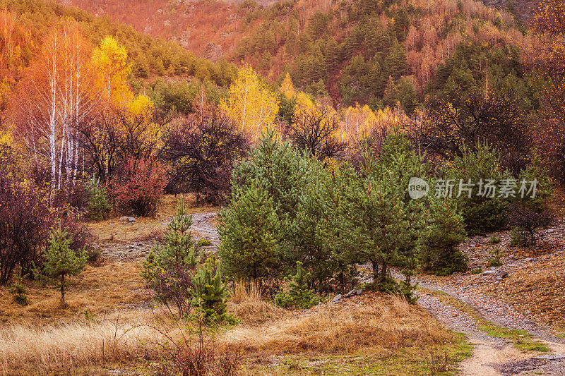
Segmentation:
{"type": "Polygon", "coordinates": [[[83,271],[86,265],[86,250],[72,250],[72,236],[61,229],[61,221],[57,229],[52,229],[49,238],[49,248],[45,250],[44,272],[47,276],[58,281],[61,291],[61,302],[65,305],[66,276],[73,276],[83,271]]]}

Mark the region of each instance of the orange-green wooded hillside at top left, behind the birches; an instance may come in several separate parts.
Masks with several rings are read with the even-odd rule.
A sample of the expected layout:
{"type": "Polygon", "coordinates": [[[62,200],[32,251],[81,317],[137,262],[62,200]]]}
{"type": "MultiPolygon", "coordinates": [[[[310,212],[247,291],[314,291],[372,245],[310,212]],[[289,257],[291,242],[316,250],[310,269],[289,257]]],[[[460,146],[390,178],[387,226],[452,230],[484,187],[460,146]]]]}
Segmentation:
{"type": "MultiPolygon", "coordinates": [[[[143,91],[155,101],[157,97],[167,97],[161,92],[169,88],[166,82],[181,82],[191,95],[185,100],[186,110],[181,111],[190,109],[202,81],[206,81],[208,98],[218,100],[224,96],[222,88],[236,73],[236,66],[225,59],[214,63],[177,42],[144,35],[109,17],[97,17],[54,2],[0,0],[0,22],[4,25],[0,34],[0,119],[11,91],[36,59],[50,30],[69,20],[77,22],[90,47],[97,46],[108,35],[124,47],[131,71],[129,84],[136,92],[143,91]]],[[[169,108],[167,103],[163,106],[169,108]]]]}

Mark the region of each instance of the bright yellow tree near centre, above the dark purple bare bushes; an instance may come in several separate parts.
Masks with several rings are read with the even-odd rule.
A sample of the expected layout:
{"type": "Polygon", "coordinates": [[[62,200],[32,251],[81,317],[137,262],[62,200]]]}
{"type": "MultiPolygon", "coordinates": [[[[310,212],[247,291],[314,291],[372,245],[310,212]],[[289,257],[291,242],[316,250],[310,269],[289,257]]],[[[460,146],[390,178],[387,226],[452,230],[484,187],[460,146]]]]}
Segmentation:
{"type": "Polygon", "coordinates": [[[230,85],[230,97],[220,103],[220,108],[257,140],[261,131],[274,125],[278,104],[275,92],[246,65],[237,72],[230,85]]]}

